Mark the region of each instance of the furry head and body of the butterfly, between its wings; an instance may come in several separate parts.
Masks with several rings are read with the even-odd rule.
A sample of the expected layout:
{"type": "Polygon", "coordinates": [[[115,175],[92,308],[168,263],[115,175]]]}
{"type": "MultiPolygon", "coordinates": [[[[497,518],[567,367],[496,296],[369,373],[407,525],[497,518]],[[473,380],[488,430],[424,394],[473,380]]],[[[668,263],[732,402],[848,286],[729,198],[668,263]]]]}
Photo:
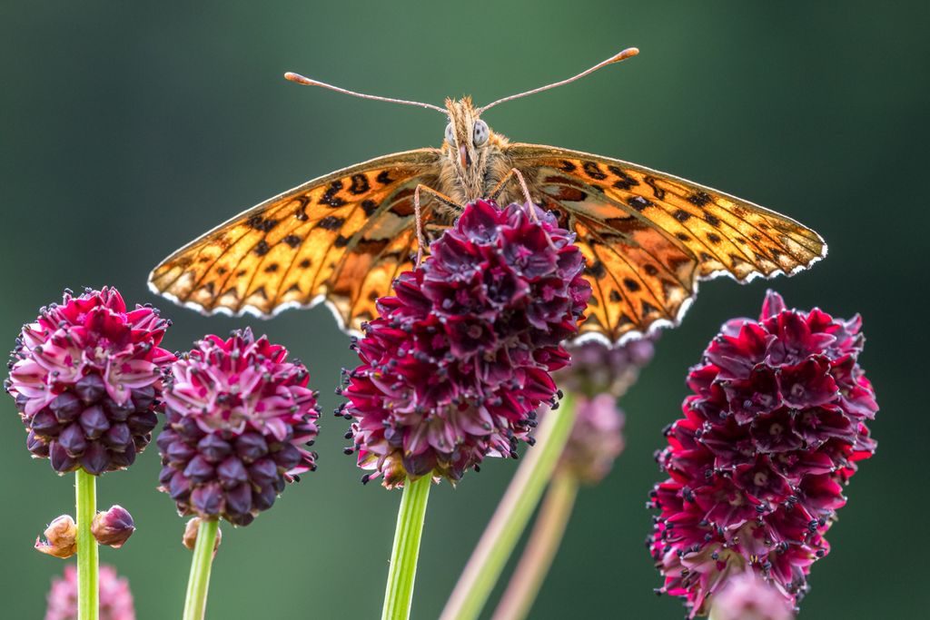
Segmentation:
{"type": "Polygon", "coordinates": [[[487,129],[486,140],[476,143],[479,113],[472,105],[472,98],[446,99],[445,107],[453,141],[447,135],[443,142],[436,189],[458,204],[466,204],[487,196],[510,171],[512,166],[505,154],[508,140],[487,129]]]}

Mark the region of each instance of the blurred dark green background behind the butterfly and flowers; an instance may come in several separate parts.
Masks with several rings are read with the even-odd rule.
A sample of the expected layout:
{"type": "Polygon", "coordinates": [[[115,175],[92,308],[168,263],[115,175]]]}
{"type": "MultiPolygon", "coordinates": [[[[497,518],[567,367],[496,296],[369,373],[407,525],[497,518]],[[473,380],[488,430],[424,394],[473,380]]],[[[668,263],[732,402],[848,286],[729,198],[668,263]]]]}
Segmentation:
{"type": "MultiPolygon", "coordinates": [[[[174,320],[173,350],[253,324],[286,343],[323,393],[320,468],[254,524],[225,527],[210,618],[377,617],[400,495],[363,487],[341,454],[347,339],[323,308],[273,321],[204,318],[145,287],[153,265],[245,207],[387,152],[438,145],[432,112],[299,88],[297,71],[381,95],[487,102],[576,73],[626,46],[639,58],[488,112],[512,139],[629,159],[771,206],[821,232],[830,257],[772,283],[792,305],[861,312],[861,363],[882,405],[875,457],[848,488],[803,618],[917,617],[930,439],[924,298],[930,209],[930,4],[200,2],[0,3],[0,340],[64,286],[114,284],[174,320]]],[[[629,444],[579,496],[535,618],[678,618],[644,550],[652,453],[684,373],[724,319],[757,313],[769,284],[704,284],[684,325],[625,399],[629,444]]],[[[5,397],[6,398],[6,397],[5,397]]],[[[32,550],[73,512],[72,477],[30,460],[0,402],[0,616],[39,618],[63,562],[32,550]]],[[[487,464],[433,491],[414,616],[438,615],[507,481],[487,464]]],[[[190,553],[154,447],[100,482],[139,530],[101,561],[131,580],[140,618],[178,617],[190,553]]]]}

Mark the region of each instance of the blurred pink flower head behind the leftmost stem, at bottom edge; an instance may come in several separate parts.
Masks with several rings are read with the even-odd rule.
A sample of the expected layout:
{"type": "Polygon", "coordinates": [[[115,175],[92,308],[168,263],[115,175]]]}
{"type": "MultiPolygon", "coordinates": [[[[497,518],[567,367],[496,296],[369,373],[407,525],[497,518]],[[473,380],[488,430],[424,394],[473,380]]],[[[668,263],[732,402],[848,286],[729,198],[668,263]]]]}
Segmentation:
{"type": "MultiPolygon", "coordinates": [[[[100,564],[100,620],[136,620],[136,608],[126,577],[113,566],[100,564]]],[[[46,620],[77,620],[77,569],[64,567],[64,577],[52,580],[48,591],[46,620]]]]}

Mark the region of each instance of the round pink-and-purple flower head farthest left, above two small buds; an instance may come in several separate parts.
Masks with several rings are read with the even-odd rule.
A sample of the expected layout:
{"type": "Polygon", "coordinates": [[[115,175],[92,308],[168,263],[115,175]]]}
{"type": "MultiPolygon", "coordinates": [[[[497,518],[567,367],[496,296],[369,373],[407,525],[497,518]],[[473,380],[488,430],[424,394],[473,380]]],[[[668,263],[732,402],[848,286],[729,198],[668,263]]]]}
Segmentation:
{"type": "Polygon", "coordinates": [[[152,440],[164,366],[158,347],[170,323],[151,307],[126,311],[115,288],[87,289],[23,325],[7,392],[33,456],[59,473],[126,468],[152,440]]]}

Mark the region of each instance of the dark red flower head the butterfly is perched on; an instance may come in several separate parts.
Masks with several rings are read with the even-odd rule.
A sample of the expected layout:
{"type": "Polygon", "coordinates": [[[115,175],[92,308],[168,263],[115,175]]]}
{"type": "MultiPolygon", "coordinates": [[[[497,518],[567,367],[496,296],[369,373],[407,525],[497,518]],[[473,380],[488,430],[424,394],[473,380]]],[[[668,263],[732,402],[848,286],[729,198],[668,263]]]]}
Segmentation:
{"type": "Polygon", "coordinates": [[[338,412],[355,418],[359,467],[392,487],[516,455],[591,295],[573,241],[535,205],[478,201],[401,274],[357,343],[338,412]]]}

